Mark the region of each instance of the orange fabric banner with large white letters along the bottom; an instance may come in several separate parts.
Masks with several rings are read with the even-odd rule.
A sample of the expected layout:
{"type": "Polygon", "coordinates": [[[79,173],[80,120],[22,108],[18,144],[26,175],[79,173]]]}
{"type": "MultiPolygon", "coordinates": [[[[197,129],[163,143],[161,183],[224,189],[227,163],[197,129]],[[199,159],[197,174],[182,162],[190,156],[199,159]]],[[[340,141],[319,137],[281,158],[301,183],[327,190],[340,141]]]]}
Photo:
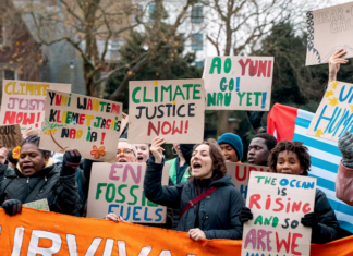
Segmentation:
{"type": "MultiPolygon", "coordinates": [[[[0,209],[0,255],[11,256],[236,256],[242,248],[241,241],[195,242],[184,232],[29,208],[23,208],[22,214],[14,217],[0,209]]],[[[312,245],[311,256],[353,255],[352,243],[353,236],[312,245]]]]}

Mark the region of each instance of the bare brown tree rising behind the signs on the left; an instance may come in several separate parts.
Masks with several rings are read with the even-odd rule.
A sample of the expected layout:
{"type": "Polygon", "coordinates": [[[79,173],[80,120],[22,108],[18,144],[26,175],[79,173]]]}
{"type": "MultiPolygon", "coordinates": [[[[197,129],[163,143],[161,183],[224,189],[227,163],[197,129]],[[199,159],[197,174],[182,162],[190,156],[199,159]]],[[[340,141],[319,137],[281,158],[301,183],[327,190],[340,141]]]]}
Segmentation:
{"type": "MultiPolygon", "coordinates": [[[[134,74],[146,65],[148,58],[160,50],[165,38],[175,34],[184,22],[187,9],[196,0],[184,1],[175,22],[163,35],[158,35],[157,22],[146,22],[143,19],[146,9],[141,10],[138,4],[131,0],[59,0],[59,7],[50,3],[57,2],[52,0],[16,2],[17,11],[23,16],[31,17],[36,37],[41,44],[51,46],[66,41],[76,49],[83,62],[87,95],[101,95],[104,83],[129,66],[124,81],[110,96],[110,99],[117,99],[124,94],[134,74]],[[145,32],[151,35],[150,40],[146,42],[148,51],[130,63],[122,61],[119,56],[112,60],[109,56],[111,44],[124,41],[138,26],[145,27],[145,32]],[[158,36],[153,38],[155,35],[158,36]]],[[[158,7],[162,0],[149,2],[155,2],[158,7]]]]}

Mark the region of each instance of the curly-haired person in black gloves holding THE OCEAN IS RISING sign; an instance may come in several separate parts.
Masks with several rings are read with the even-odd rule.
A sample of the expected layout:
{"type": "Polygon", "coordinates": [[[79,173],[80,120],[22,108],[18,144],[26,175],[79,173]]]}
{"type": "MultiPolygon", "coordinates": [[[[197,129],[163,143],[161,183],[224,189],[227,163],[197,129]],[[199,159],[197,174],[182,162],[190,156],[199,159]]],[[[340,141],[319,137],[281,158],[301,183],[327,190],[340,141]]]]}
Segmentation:
{"type": "MultiPolygon", "coordinates": [[[[268,158],[271,171],[282,174],[307,176],[311,168],[311,156],[307,147],[300,142],[281,141],[268,158]]],[[[253,214],[243,207],[241,221],[253,219],[253,214]]],[[[312,227],[312,243],[324,244],[338,237],[339,223],[326,195],[316,188],[314,212],[305,214],[301,220],[304,227],[312,227]]]]}

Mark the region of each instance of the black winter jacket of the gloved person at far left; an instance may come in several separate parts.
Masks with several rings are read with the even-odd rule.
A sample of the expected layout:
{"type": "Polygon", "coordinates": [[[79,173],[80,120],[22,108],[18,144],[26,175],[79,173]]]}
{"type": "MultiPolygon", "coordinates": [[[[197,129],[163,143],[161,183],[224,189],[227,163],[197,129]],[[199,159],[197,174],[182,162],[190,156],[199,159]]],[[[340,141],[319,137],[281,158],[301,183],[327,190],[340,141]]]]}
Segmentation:
{"type": "Polygon", "coordinates": [[[22,204],[26,204],[47,198],[50,211],[76,215],[81,202],[75,173],[61,175],[61,169],[62,163],[56,163],[28,178],[17,169],[7,169],[0,182],[0,204],[8,199],[19,199],[22,204]],[[37,187],[37,184],[40,187],[37,187]],[[31,195],[31,192],[37,188],[38,192],[31,195]]]}

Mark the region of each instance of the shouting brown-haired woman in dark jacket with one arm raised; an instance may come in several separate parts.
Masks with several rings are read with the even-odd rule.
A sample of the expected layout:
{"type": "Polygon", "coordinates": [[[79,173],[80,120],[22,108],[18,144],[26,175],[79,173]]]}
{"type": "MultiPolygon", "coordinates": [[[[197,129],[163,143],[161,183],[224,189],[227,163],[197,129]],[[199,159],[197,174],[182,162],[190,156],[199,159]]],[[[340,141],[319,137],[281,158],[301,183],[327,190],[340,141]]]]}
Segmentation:
{"type": "Polygon", "coordinates": [[[159,205],[183,210],[188,202],[204,192],[211,194],[191,206],[180,218],[178,231],[188,232],[199,239],[242,239],[240,211],[244,199],[227,174],[224,157],[216,143],[196,145],[191,159],[191,178],[176,186],[162,186],[165,166],[161,145],[166,141],[156,137],[150,147],[153,156],[147,161],[144,190],[146,197],[159,205]]]}

